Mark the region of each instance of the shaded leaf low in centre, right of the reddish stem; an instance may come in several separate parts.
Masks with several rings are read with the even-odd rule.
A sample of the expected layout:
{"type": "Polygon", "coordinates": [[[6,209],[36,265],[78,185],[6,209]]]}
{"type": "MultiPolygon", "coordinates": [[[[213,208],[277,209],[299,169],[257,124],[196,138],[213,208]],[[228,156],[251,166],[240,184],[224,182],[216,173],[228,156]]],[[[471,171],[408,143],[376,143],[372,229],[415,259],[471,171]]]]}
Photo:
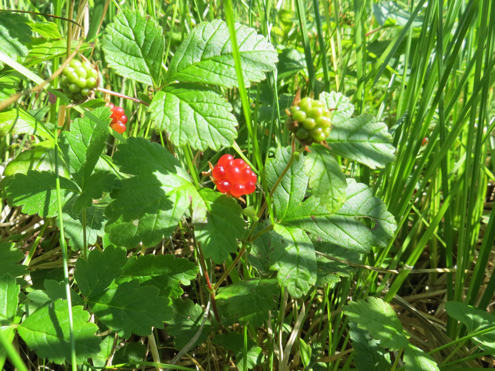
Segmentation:
{"type": "Polygon", "coordinates": [[[261,327],[276,308],[279,295],[275,279],[250,278],[220,287],[215,300],[219,308],[226,306],[229,317],[241,325],[261,327]]]}

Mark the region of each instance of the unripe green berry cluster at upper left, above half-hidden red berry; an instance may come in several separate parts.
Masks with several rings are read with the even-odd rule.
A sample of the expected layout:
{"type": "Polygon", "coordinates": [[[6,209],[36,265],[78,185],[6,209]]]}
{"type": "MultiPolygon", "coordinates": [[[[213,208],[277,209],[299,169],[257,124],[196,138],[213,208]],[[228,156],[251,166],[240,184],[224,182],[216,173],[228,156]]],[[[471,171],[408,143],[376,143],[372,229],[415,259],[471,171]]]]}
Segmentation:
{"type": "Polygon", "coordinates": [[[84,100],[98,85],[98,71],[90,62],[72,59],[62,71],[60,87],[72,100],[84,100]]]}

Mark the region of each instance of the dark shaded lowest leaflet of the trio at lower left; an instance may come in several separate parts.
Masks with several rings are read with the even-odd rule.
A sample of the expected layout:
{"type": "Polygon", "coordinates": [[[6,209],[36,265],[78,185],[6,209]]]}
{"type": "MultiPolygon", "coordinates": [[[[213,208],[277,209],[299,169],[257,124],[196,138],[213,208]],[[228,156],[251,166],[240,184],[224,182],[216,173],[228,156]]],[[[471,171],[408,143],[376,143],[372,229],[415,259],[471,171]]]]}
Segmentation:
{"type": "Polygon", "coordinates": [[[131,332],[146,336],[151,333],[151,327],[163,328],[163,321],[172,316],[170,299],[158,294],[156,287],[140,287],[139,281],[133,279],[112,284],[100,294],[92,295],[87,303],[95,316],[119,336],[128,338],[131,332]]]}

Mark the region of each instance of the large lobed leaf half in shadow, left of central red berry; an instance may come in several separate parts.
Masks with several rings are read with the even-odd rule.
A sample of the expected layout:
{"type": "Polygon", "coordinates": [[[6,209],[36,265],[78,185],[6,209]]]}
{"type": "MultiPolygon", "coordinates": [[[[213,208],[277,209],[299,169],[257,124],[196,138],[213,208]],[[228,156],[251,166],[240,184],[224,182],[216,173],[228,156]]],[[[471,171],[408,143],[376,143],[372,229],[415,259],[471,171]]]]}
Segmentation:
{"type": "Polygon", "coordinates": [[[144,138],[129,138],[113,155],[124,179],[106,207],[110,240],[127,248],[157,244],[177,228],[197,194],[191,178],[165,148],[144,138]]]}

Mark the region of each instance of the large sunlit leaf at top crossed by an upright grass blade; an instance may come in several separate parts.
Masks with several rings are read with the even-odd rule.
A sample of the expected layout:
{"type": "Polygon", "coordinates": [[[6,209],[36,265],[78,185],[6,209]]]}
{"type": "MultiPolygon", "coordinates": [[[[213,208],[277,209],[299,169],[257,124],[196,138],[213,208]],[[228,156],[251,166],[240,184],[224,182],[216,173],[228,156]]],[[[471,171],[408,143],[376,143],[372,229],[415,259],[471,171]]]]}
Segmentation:
{"type": "MultiPolygon", "coordinates": [[[[244,84],[249,87],[251,82],[264,80],[265,72],[275,69],[277,52],[256,30],[239,23],[234,27],[244,84]]],[[[199,24],[175,52],[165,80],[237,87],[227,24],[218,19],[199,24]]]]}

